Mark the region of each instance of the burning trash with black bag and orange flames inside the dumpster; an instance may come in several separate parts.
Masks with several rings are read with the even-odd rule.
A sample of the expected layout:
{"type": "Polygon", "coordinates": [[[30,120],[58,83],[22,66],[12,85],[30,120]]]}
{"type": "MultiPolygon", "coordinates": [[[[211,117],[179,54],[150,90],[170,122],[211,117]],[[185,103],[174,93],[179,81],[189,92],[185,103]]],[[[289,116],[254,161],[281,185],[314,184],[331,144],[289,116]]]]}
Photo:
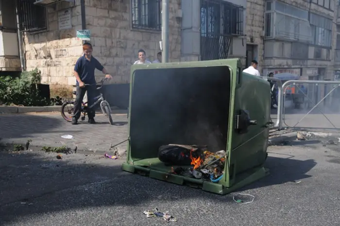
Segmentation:
{"type": "Polygon", "coordinates": [[[223,177],[227,153],[209,152],[206,146],[169,144],[159,148],[158,158],[171,167],[171,174],[191,176],[217,183],[223,177]],[[189,166],[189,167],[184,167],[189,166]]]}

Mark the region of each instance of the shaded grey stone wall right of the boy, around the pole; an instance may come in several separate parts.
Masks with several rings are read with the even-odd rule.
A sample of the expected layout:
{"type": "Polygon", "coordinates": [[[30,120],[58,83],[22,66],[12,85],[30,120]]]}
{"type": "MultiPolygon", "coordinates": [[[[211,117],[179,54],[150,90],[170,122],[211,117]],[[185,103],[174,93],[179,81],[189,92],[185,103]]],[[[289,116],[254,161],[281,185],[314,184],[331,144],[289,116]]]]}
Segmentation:
{"type": "MultiPolygon", "coordinates": [[[[91,31],[93,55],[115,75],[114,83],[130,82],[130,67],[138,59],[139,49],[150,61],[160,52],[161,32],[132,29],[130,5],[131,0],[86,1],[86,27],[91,31]]],[[[170,62],[180,61],[181,56],[181,25],[175,17],[179,8],[177,0],[170,0],[170,62]]]]}

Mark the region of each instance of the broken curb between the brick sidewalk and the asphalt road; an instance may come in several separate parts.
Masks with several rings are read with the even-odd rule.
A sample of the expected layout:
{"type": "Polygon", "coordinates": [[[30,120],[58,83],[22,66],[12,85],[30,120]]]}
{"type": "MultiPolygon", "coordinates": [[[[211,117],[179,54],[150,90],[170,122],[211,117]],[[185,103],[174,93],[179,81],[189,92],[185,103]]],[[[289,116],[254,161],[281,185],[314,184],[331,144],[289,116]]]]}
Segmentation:
{"type": "MultiPolygon", "coordinates": [[[[26,146],[26,143],[14,143],[14,142],[0,142],[0,151],[5,149],[5,150],[13,150],[14,149],[14,145],[15,144],[19,144],[22,147],[26,146]]],[[[61,145],[61,146],[65,146],[67,147],[70,151],[68,154],[83,154],[83,155],[96,155],[96,156],[103,156],[105,153],[109,154],[109,155],[114,155],[115,152],[117,151],[117,156],[120,158],[126,157],[126,150],[123,150],[122,148],[116,148],[113,150],[107,150],[107,151],[102,151],[102,150],[88,150],[85,148],[81,148],[79,146],[77,146],[78,148],[76,149],[76,146],[72,146],[71,145],[61,145]]],[[[56,147],[56,146],[51,146],[52,148],[56,147]]],[[[60,147],[60,146],[59,146],[60,147]]],[[[42,151],[43,146],[41,145],[33,145],[31,144],[29,146],[29,150],[32,151],[39,151],[39,152],[43,152],[42,151]]],[[[57,154],[57,153],[56,153],[57,154]]]]}

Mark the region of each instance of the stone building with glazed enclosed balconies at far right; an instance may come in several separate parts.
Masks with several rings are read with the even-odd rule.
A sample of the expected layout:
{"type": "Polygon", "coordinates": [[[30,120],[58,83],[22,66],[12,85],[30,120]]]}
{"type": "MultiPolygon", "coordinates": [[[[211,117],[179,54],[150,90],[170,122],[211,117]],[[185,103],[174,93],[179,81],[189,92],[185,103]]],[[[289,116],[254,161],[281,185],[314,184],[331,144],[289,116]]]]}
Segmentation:
{"type": "Polygon", "coordinates": [[[337,9],[335,0],[248,0],[248,58],[263,75],[334,79],[337,9]]]}

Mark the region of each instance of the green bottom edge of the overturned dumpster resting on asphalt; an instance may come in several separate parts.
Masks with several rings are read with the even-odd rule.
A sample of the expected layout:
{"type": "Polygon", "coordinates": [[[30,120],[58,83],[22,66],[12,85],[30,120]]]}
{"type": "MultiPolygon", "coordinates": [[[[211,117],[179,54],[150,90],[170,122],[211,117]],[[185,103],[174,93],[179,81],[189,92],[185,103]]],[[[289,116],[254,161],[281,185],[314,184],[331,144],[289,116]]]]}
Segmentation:
{"type": "Polygon", "coordinates": [[[228,194],[230,192],[236,191],[246,185],[249,185],[269,174],[269,170],[262,167],[256,167],[248,170],[245,173],[238,174],[237,179],[233,186],[225,187],[222,184],[222,180],[219,183],[212,183],[210,181],[195,179],[192,177],[186,177],[177,174],[171,174],[170,171],[164,168],[150,168],[148,166],[138,166],[132,165],[131,163],[123,163],[122,170],[134,174],[141,174],[144,176],[149,176],[150,178],[163,180],[179,185],[187,185],[194,188],[201,188],[204,191],[209,191],[217,194],[228,194]]]}

